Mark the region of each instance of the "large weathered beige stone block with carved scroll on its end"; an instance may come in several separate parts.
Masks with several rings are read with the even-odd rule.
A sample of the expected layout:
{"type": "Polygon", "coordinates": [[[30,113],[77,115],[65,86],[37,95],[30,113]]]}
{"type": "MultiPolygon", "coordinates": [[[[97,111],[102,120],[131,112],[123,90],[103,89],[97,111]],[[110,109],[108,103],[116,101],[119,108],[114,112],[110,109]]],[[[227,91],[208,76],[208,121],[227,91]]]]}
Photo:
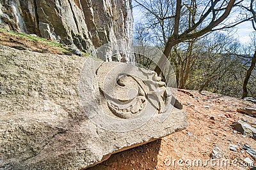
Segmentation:
{"type": "MultiPolygon", "coordinates": [[[[104,74],[113,67],[128,66],[120,64],[0,46],[0,169],[82,169],[108,159],[111,153],[186,128],[184,111],[173,108],[168,113],[170,92],[153,72],[137,69],[148,76],[152,89],[159,87],[159,93],[143,85],[143,78],[121,76],[113,86],[119,92],[110,99],[123,104],[116,106],[104,97],[111,87],[107,84],[105,89],[104,74]],[[135,89],[129,96],[134,103],[122,109],[130,102],[122,94],[126,86],[135,89]],[[163,98],[157,103],[153,96],[163,98]],[[148,106],[154,109],[147,110],[148,106]],[[113,129],[95,120],[102,111],[106,120],[119,120],[110,125],[113,129]],[[143,114],[148,120],[137,128],[115,128],[120,122],[132,127],[145,120],[140,117],[143,114]],[[163,116],[167,117],[160,122],[163,116]]],[[[116,72],[109,73],[111,78],[116,72]]]]}

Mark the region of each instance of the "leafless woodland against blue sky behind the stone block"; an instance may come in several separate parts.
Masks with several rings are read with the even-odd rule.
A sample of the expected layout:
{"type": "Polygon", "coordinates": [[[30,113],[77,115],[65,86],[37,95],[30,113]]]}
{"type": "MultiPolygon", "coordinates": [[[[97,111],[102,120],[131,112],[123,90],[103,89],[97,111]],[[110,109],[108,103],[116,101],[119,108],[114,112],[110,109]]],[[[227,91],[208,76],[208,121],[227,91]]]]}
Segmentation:
{"type": "MultiPolygon", "coordinates": [[[[157,46],[168,57],[177,87],[234,97],[256,97],[256,1],[135,1],[143,17],[134,23],[134,39],[157,46]],[[251,22],[250,43],[234,37],[237,25],[251,22]]],[[[161,70],[136,55],[135,62],[161,70]]],[[[161,59],[157,65],[163,66],[161,59]]]]}

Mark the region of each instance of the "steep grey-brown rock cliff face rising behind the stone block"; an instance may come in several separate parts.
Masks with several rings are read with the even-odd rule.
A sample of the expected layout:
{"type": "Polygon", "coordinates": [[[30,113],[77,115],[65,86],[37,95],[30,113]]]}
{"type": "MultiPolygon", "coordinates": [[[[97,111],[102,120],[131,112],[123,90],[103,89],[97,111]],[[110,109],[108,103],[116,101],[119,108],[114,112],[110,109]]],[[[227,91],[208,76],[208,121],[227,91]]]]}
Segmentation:
{"type": "Polygon", "coordinates": [[[89,53],[116,39],[130,46],[131,0],[0,0],[0,26],[89,53]]]}

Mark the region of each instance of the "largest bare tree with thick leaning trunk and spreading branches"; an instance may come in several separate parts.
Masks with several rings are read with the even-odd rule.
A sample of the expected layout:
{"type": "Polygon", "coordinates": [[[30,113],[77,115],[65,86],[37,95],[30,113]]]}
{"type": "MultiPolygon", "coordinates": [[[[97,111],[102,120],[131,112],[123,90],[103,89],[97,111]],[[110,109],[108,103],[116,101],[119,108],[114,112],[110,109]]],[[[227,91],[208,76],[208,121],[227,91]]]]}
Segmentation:
{"type": "MultiPolygon", "coordinates": [[[[154,22],[153,24],[157,25],[164,23],[164,20],[172,20],[170,23],[173,23],[173,29],[170,29],[170,32],[168,32],[169,34],[164,34],[164,31],[162,32],[164,38],[163,53],[166,57],[169,57],[173,46],[181,42],[199,38],[200,36],[214,30],[234,27],[235,25],[244,22],[244,20],[252,19],[241,18],[241,20],[236,20],[235,22],[229,22],[226,23],[226,25],[223,25],[223,22],[225,22],[232,10],[234,10],[237,5],[241,4],[243,0],[177,0],[176,2],[172,0],[165,0],[162,1],[165,3],[162,3],[160,5],[161,8],[158,8],[158,10],[156,10],[156,8],[152,8],[152,4],[153,2],[157,3],[160,0],[151,0],[149,3],[148,1],[134,1],[142,6],[147,13],[152,15],[152,17],[156,18],[157,22],[154,22]],[[173,8],[168,8],[168,6],[171,6],[170,4],[175,6],[174,11],[173,8]],[[163,7],[163,5],[165,6],[163,7]],[[172,12],[166,13],[168,10],[172,12]]],[[[163,26],[161,27],[164,28],[163,26]]],[[[157,64],[158,66],[155,69],[159,75],[161,74],[160,67],[164,67],[166,64],[166,57],[161,57],[157,64]]]]}

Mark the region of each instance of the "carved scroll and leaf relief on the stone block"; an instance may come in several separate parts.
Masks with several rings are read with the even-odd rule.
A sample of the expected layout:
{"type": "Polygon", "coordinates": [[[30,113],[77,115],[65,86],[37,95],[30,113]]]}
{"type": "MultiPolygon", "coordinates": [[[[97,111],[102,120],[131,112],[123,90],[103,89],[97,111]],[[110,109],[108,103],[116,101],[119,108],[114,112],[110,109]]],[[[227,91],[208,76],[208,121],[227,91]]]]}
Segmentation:
{"type": "Polygon", "coordinates": [[[145,110],[147,104],[151,104],[159,114],[172,109],[172,90],[154,71],[131,64],[104,62],[97,69],[96,75],[104,108],[107,105],[108,110],[118,118],[136,117],[145,110]],[[109,64],[113,67],[106,70],[109,64]]]}

